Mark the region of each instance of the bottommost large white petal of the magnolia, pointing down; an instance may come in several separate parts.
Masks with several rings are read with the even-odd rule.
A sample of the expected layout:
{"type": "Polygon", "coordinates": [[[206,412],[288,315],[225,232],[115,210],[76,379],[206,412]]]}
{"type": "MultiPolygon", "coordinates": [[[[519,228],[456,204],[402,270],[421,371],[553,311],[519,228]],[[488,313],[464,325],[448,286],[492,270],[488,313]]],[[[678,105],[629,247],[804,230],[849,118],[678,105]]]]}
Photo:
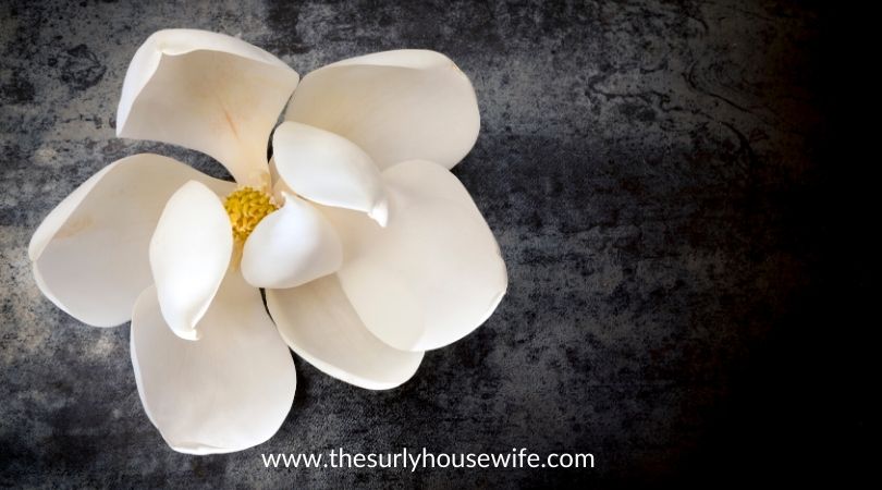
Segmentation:
{"type": "Polygon", "coordinates": [[[175,451],[241,451],[266,441],[294,400],[291,353],[267,316],[260,292],[235,270],[199,321],[201,339],[175,336],[155,287],[132,318],[132,364],[150,421],[175,451]]]}

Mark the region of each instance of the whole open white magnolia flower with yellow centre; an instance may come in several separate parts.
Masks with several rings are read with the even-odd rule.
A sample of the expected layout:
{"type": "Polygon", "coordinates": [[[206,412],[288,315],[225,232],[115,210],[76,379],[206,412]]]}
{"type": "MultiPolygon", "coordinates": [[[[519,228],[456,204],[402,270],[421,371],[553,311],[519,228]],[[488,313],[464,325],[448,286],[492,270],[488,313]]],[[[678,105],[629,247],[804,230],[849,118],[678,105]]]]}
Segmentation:
{"type": "Polygon", "coordinates": [[[59,308],[96,327],[131,319],[138,394],[175,451],[269,439],[294,400],[287,347],[334,378],[390,389],[505,293],[497,242],[449,171],[479,128],[456,65],[399,50],[298,79],[233,37],[154,34],[125,75],[117,135],[208,154],[235,183],[127,157],[30,242],[36,282],[59,308]]]}

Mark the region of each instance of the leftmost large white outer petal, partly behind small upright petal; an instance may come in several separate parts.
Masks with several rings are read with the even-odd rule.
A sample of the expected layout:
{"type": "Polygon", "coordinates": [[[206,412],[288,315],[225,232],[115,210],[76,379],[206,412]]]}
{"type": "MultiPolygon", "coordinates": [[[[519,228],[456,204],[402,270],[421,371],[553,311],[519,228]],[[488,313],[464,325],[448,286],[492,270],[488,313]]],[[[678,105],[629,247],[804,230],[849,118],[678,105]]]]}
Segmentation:
{"type": "Polygon", "coordinates": [[[152,283],[148,248],[166,201],[189,180],[218,193],[234,186],[158,155],[118,160],[46,217],[28,255],[40,291],[79,321],[112,327],[152,283]]]}

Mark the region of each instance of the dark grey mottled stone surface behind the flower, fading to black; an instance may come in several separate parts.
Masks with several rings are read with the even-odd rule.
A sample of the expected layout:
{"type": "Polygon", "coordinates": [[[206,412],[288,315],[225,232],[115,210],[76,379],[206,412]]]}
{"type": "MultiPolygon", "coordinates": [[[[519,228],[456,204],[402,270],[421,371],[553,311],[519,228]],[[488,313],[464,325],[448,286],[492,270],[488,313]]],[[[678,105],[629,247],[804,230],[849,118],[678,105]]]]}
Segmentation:
{"type": "Polygon", "coordinates": [[[825,29],[805,2],[3,1],[0,485],[617,487],[786,480],[820,469],[800,451],[850,457],[867,387],[833,372],[865,362],[836,354],[857,323],[829,293],[869,297],[869,274],[837,282],[855,267],[831,260],[825,29]],[[495,315],[389,392],[295,358],[294,407],[269,442],[170,451],[142,411],[128,329],[60,311],[26,256],[49,210],[115,159],[149,150],[224,174],[194,151],[114,137],[128,60],[166,27],[238,35],[302,74],[402,47],[454,59],[482,115],[454,173],[511,278],[495,315]],[[338,446],[591,452],[597,468],[260,463],[338,446]]]}

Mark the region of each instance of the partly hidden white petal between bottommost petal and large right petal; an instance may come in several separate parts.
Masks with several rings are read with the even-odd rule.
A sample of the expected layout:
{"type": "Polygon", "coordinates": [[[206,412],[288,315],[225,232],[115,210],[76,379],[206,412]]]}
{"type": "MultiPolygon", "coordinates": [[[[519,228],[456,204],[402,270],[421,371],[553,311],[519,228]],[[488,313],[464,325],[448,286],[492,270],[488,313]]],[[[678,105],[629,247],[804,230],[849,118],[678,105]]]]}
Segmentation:
{"type": "Polygon", "coordinates": [[[358,318],[336,275],[299,287],[267,290],[267,308],[289,346],[336,379],[388,390],[411,379],[421,352],[390,347],[358,318]]]}

